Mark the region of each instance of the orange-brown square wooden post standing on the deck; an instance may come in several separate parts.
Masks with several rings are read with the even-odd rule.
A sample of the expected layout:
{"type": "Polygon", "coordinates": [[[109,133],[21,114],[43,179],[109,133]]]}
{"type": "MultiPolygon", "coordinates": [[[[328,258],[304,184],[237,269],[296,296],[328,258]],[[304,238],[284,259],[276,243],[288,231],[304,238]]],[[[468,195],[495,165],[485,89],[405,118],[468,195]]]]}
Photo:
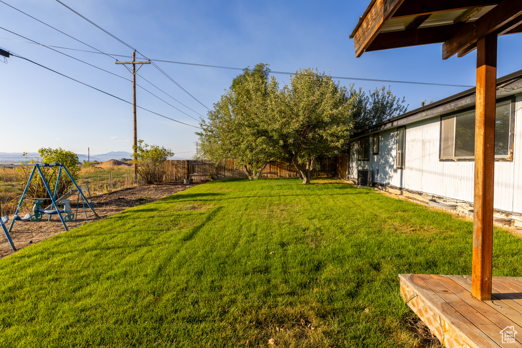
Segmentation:
{"type": "Polygon", "coordinates": [[[491,299],[497,35],[477,41],[472,294],[491,299]]]}

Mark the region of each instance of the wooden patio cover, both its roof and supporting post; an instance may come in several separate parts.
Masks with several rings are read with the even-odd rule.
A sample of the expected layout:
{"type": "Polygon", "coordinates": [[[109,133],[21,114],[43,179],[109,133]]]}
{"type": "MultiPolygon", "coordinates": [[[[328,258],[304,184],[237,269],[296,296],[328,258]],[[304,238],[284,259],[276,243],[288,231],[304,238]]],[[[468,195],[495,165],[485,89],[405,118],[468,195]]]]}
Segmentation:
{"type": "Polygon", "coordinates": [[[477,48],[472,294],[491,299],[497,37],[522,32],[521,0],[372,0],[355,55],[442,42],[442,58],[477,48]]]}

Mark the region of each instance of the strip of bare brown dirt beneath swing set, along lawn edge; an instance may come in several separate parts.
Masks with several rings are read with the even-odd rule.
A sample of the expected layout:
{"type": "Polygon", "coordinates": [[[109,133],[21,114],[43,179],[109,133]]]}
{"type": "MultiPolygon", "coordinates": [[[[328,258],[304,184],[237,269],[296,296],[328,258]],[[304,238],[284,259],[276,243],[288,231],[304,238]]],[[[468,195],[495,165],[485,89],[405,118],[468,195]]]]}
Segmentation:
{"type": "MultiPolygon", "coordinates": [[[[96,210],[101,219],[104,219],[127,208],[157,201],[160,198],[170,196],[200,184],[202,183],[184,185],[182,182],[173,182],[124,188],[113,191],[110,194],[92,196],[92,203],[94,210],[96,210]]],[[[73,206],[72,203],[71,206],[73,206]]],[[[75,212],[75,210],[76,203],[74,205],[73,212],[75,212]]],[[[88,217],[90,217],[91,214],[92,212],[90,214],[87,212],[88,217]]],[[[22,217],[23,215],[25,214],[22,214],[22,217]]],[[[6,225],[7,228],[9,228],[11,218],[12,217],[9,217],[9,222],[6,225]]],[[[43,241],[45,238],[49,238],[55,234],[65,232],[60,219],[56,215],[53,215],[51,219],[51,221],[42,219],[38,222],[15,222],[13,225],[13,230],[11,230],[9,235],[11,236],[11,239],[13,239],[13,243],[15,244],[16,248],[25,248],[28,245],[43,241]]],[[[78,209],[77,219],[71,222],[67,222],[66,224],[68,229],[72,230],[91,221],[93,221],[92,218],[88,218],[87,221],[85,219],[85,213],[83,211],[80,212],[80,209],[78,209]]],[[[7,242],[7,238],[0,228],[0,258],[4,258],[11,254],[13,254],[13,250],[11,250],[9,243],[7,242]]]]}

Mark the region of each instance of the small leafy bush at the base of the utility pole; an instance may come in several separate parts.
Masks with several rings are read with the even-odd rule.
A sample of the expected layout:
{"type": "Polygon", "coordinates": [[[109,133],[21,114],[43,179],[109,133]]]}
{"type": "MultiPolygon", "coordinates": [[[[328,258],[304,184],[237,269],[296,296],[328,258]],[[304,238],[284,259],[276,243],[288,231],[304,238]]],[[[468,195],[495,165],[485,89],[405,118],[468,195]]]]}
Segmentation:
{"type": "Polygon", "coordinates": [[[136,149],[133,162],[138,165],[139,176],[148,185],[162,183],[166,173],[165,162],[174,152],[158,145],[148,145],[141,139],[136,149]]]}

